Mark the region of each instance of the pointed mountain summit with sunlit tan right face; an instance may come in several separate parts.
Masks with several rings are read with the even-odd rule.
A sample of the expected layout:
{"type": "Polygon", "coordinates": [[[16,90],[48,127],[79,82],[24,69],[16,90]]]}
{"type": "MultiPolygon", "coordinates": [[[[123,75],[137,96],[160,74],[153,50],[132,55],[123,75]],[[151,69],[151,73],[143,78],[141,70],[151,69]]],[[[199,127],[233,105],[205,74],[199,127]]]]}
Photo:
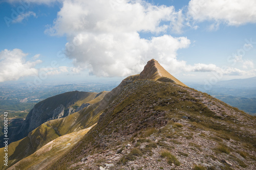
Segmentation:
{"type": "Polygon", "coordinates": [[[186,86],[174,76],[170,75],[169,72],[166,71],[155,59],[147,62],[143,71],[141,71],[139,75],[139,79],[151,79],[164,82],[172,82],[181,86],[186,86]]]}

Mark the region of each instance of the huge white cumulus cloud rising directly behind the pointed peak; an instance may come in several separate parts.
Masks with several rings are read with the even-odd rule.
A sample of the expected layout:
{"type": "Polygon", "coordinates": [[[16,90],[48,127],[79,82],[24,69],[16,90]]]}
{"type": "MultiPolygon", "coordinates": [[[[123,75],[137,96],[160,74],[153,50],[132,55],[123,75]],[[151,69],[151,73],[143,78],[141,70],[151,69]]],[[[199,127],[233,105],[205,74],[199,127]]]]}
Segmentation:
{"type": "Polygon", "coordinates": [[[177,51],[188,47],[186,37],[161,35],[143,39],[139,32],[165,33],[169,28],[179,32],[182,11],[173,6],[154,6],[144,1],[64,1],[53,26],[46,33],[66,35],[66,55],[73,59],[79,72],[104,77],[138,74],[146,61],[155,58],[177,72],[184,61],[177,51]],[[92,10],[93,9],[93,10],[92,10]]]}

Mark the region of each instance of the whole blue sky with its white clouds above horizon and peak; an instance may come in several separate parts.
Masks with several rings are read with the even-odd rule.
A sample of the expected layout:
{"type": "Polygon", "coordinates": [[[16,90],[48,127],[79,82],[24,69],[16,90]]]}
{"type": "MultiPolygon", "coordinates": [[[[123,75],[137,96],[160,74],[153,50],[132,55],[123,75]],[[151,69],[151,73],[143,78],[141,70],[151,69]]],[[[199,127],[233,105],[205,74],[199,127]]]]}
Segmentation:
{"type": "Polygon", "coordinates": [[[256,76],[254,0],[6,0],[0,11],[0,82],[121,80],[152,58],[183,82],[256,76]]]}

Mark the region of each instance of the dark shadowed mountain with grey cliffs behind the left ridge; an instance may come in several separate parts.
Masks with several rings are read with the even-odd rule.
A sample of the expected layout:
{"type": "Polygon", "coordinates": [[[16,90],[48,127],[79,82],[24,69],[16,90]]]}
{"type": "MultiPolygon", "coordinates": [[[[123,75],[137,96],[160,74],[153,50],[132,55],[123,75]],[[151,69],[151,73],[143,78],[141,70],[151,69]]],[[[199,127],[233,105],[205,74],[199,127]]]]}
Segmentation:
{"type": "Polygon", "coordinates": [[[29,132],[49,120],[75,113],[77,107],[79,108],[78,110],[81,110],[81,106],[77,105],[77,103],[79,101],[87,103],[93,100],[96,95],[97,93],[92,92],[71,91],[37,103],[22,125],[17,127],[16,131],[11,134],[10,142],[26,137],[29,132]]]}

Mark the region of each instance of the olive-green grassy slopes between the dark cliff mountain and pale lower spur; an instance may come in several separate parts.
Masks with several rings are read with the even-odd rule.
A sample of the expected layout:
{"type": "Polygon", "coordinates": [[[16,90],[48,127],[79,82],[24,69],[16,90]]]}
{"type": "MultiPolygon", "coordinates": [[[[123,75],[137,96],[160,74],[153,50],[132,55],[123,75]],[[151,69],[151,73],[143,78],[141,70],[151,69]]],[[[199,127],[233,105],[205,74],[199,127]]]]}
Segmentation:
{"type": "MultiPolygon", "coordinates": [[[[92,103],[101,101],[106,93],[108,92],[102,92],[97,98],[92,100],[92,103]]],[[[90,101],[88,103],[90,103],[90,101]]],[[[11,150],[8,152],[9,165],[31,155],[59,136],[89,128],[97,123],[98,116],[101,113],[101,110],[98,109],[100,104],[101,102],[94,103],[86,109],[73,113],[67,117],[50,120],[30,132],[27,137],[10,143],[9,148],[11,150]],[[96,112],[94,112],[95,110],[96,112]]],[[[4,155],[3,148],[0,150],[0,156],[2,155],[4,155]]],[[[0,167],[4,168],[3,162],[0,163],[0,167]]]]}

